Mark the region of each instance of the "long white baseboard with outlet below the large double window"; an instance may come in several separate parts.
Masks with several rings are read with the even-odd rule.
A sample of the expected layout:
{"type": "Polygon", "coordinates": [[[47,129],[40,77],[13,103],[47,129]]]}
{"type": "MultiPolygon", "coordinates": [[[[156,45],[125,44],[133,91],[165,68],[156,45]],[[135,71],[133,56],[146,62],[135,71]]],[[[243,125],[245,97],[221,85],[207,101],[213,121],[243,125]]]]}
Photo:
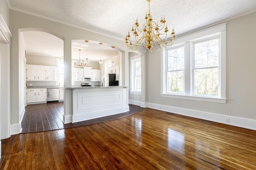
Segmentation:
{"type": "Polygon", "coordinates": [[[153,104],[153,103],[147,103],[147,106],[152,109],[157,109],[157,110],[166,111],[170,113],[176,113],[179,115],[184,115],[184,116],[194,117],[198,119],[204,119],[208,121],[223,123],[226,125],[232,125],[232,126],[242,127],[246,129],[256,130],[255,119],[248,119],[244,117],[223,115],[218,113],[210,113],[206,111],[198,111],[198,110],[185,109],[181,107],[172,107],[172,106],[153,104]],[[229,122],[225,122],[226,118],[229,118],[229,122]]]}

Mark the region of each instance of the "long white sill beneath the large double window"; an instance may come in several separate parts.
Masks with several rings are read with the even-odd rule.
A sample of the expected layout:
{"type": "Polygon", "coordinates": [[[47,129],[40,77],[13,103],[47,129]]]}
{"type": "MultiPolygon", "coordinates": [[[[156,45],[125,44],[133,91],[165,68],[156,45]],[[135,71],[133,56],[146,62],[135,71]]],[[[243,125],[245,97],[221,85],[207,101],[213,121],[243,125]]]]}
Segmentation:
{"type": "Polygon", "coordinates": [[[212,103],[222,103],[226,104],[227,99],[223,98],[210,98],[210,97],[199,97],[199,96],[184,96],[184,95],[175,95],[175,94],[160,94],[163,98],[174,98],[174,99],[183,99],[183,100],[194,100],[200,102],[212,102],[212,103]]]}

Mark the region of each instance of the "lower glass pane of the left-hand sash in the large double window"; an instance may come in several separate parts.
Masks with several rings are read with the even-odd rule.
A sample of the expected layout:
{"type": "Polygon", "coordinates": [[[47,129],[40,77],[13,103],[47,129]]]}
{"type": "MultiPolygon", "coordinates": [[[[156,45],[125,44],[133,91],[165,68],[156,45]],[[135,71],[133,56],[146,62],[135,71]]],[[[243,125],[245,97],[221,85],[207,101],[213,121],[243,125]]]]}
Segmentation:
{"type": "Polygon", "coordinates": [[[168,93],[184,93],[184,71],[168,72],[168,93]]]}

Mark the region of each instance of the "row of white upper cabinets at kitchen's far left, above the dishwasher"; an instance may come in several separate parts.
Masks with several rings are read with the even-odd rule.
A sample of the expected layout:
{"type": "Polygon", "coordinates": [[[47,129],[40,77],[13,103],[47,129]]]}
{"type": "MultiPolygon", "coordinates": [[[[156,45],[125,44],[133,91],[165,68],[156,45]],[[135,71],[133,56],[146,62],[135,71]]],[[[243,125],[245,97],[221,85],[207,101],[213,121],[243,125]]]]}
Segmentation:
{"type": "Polygon", "coordinates": [[[26,80],[55,80],[55,67],[27,64],[26,80]]]}

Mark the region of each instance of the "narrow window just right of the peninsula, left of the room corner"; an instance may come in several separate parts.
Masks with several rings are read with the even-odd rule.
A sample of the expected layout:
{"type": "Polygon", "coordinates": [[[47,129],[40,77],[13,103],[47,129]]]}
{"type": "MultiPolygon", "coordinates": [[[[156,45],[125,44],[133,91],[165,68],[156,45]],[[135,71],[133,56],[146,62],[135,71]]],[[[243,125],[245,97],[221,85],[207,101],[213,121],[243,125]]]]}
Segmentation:
{"type": "Polygon", "coordinates": [[[131,92],[141,92],[141,62],[131,59],[131,92]]]}

